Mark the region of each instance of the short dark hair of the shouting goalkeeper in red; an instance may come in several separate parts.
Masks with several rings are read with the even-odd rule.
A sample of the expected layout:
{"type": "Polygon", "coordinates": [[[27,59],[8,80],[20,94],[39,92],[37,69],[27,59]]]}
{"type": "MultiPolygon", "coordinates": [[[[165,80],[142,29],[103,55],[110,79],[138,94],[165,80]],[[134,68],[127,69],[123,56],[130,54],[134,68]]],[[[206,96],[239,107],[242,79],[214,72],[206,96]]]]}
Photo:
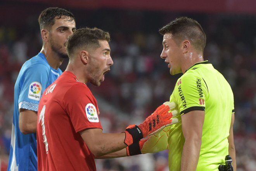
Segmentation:
{"type": "Polygon", "coordinates": [[[71,36],[69,36],[66,48],[67,54],[69,57],[72,55],[75,49],[77,48],[99,48],[100,43],[99,40],[110,41],[110,35],[108,32],[105,32],[96,27],[94,28],[81,28],[77,29],[73,32],[71,36]]]}

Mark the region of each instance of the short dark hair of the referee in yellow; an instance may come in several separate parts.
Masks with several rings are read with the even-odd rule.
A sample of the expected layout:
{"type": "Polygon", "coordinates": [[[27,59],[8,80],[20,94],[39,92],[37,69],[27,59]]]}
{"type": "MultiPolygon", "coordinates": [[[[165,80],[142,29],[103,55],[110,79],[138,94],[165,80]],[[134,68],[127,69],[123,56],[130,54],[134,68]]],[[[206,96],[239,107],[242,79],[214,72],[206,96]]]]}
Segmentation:
{"type": "Polygon", "coordinates": [[[201,25],[194,19],[179,17],[159,29],[159,33],[164,35],[171,33],[177,44],[187,39],[197,50],[204,50],[206,35],[201,25]]]}

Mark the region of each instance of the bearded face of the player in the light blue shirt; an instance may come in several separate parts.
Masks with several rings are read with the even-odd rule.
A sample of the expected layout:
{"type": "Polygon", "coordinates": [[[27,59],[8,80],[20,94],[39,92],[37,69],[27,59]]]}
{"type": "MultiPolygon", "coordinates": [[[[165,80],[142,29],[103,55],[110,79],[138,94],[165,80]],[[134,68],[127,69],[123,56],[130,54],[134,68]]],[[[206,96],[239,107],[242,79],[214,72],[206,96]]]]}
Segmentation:
{"type": "Polygon", "coordinates": [[[55,19],[55,23],[49,33],[50,48],[59,58],[68,58],[66,50],[67,38],[76,30],[75,21],[69,20],[70,17],[55,19]]]}

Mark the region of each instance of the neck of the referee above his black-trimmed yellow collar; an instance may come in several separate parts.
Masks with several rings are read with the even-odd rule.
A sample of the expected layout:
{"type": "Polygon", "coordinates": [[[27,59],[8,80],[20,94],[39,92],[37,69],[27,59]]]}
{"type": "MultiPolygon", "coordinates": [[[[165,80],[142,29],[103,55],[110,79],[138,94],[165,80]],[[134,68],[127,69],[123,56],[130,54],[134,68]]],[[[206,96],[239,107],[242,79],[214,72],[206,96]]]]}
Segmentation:
{"type": "Polygon", "coordinates": [[[201,53],[195,53],[195,52],[188,52],[182,61],[182,73],[184,74],[187,69],[195,65],[195,63],[203,62],[204,57],[201,53]]]}

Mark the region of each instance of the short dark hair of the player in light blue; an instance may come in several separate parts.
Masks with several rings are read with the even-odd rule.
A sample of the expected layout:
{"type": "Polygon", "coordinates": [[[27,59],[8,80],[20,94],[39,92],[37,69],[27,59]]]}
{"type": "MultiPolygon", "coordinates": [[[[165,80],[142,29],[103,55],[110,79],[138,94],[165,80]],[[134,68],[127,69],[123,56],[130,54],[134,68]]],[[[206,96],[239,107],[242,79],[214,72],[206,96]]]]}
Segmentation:
{"type": "Polygon", "coordinates": [[[74,15],[71,12],[58,7],[50,7],[43,10],[38,17],[40,30],[52,27],[55,23],[55,17],[57,17],[56,19],[67,18],[67,21],[75,21],[74,15]]]}

